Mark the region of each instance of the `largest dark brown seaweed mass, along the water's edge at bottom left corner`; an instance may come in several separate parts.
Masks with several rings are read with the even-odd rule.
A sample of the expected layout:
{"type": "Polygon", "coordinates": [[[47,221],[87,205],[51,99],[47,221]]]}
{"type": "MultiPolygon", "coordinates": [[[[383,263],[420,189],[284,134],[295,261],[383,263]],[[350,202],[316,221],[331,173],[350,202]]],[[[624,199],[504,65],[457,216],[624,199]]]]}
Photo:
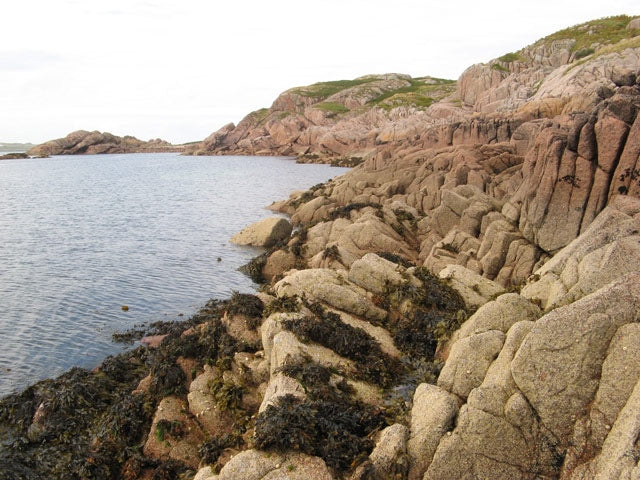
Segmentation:
{"type": "MultiPolygon", "coordinates": [[[[187,321],[152,324],[153,334],[168,335],[157,349],[141,346],[107,357],[94,371],[74,368],[0,399],[0,480],[192,475],[182,464],[140,452],[160,397],[185,392],[178,356],[215,363],[237,350],[220,320],[223,307],[210,301],[187,321]],[[187,329],[192,333],[183,335],[187,329]],[[132,394],[149,372],[149,393],[132,394]]],[[[160,424],[174,436],[180,428],[160,424]]]]}

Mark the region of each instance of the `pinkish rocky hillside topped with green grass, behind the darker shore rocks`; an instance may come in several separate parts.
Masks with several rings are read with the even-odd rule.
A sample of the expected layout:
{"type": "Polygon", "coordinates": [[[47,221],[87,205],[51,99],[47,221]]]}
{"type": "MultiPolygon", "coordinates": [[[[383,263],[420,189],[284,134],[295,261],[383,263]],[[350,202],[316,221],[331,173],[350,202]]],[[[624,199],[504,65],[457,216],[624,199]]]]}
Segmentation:
{"type": "MultiPolygon", "coordinates": [[[[357,163],[408,145],[459,143],[471,123],[512,125],[593,107],[628,82],[640,45],[626,16],[545,37],[518,52],[468,68],[457,82],[369,75],[282,93],[268,109],[226,125],[191,154],[294,155],[300,161],[357,163]]],[[[487,127],[491,129],[491,127],[487,127]]],[[[503,140],[507,137],[490,138],[503,140]]]]}

